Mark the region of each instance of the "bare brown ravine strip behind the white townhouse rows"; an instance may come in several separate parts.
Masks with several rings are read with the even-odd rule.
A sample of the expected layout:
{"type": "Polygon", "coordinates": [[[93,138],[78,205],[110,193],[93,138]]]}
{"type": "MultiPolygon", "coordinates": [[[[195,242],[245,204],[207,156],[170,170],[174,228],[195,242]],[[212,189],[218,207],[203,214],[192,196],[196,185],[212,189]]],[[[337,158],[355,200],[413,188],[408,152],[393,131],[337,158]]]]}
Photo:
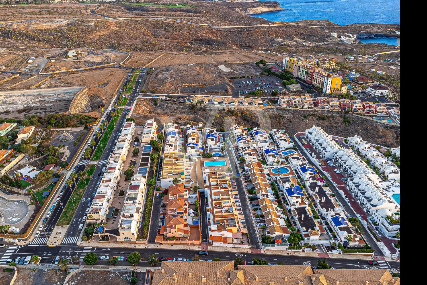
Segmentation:
{"type": "Polygon", "coordinates": [[[158,106],[154,106],[153,100],[144,99],[138,101],[136,114],[133,114],[132,118],[137,125],[143,125],[149,118],[155,118],[160,123],[183,124],[189,121],[202,121],[206,128],[212,126],[219,131],[224,131],[237,123],[269,130],[284,129],[290,135],[310,129],[312,126],[320,126],[330,135],[349,137],[356,134],[374,144],[387,147],[400,145],[400,126],[390,126],[352,114],[346,115],[351,119],[351,123],[346,126],[343,123],[344,115],[334,114],[330,115],[330,112],[323,111],[315,113],[307,110],[287,110],[281,107],[257,109],[235,107],[229,110],[229,108],[211,109],[209,106],[197,106],[194,110],[191,104],[158,100],[158,106]]]}

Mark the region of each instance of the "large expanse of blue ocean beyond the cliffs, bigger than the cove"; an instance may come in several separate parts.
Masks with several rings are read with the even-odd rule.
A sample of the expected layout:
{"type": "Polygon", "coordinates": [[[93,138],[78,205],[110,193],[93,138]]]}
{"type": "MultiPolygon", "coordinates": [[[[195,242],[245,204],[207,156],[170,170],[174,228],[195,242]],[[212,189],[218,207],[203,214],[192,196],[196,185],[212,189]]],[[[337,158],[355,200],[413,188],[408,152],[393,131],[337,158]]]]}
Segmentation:
{"type": "Polygon", "coordinates": [[[400,24],[400,0],[277,0],[281,8],[254,17],[269,21],[329,20],[354,23],[400,24]]]}

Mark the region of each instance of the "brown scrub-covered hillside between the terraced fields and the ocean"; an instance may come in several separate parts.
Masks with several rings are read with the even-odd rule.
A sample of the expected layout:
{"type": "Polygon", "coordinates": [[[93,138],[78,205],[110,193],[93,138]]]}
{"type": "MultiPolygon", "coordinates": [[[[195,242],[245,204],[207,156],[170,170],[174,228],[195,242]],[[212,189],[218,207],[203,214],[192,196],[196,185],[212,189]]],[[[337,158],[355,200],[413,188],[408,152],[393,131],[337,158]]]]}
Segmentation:
{"type": "MultiPolygon", "coordinates": [[[[390,33],[388,29],[400,29],[399,25],[339,26],[330,21],[315,20],[275,23],[242,15],[236,11],[236,5],[247,4],[230,3],[228,7],[227,3],[189,1],[185,7],[102,4],[96,9],[97,13],[111,18],[91,14],[94,5],[17,5],[18,8],[5,5],[0,7],[0,16],[8,21],[0,22],[3,25],[0,38],[18,38],[34,45],[56,48],[95,47],[196,54],[225,49],[298,49],[311,42],[333,48],[338,53],[343,53],[340,50],[354,53],[365,46],[369,47],[369,52],[389,50],[390,47],[385,44],[345,45],[338,43],[330,32],[385,34],[390,33]],[[56,25],[54,29],[52,25],[56,25]],[[273,48],[273,45],[278,47],[273,48]]],[[[17,47],[15,42],[9,44],[17,47]]]]}

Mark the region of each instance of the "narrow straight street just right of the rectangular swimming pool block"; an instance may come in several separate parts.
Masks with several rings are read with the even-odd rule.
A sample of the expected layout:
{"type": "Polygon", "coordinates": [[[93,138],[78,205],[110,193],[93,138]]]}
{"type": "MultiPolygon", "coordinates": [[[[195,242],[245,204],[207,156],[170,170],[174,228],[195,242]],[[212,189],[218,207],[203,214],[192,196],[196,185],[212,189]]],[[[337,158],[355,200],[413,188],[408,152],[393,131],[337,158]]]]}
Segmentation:
{"type": "MultiPolygon", "coordinates": [[[[225,137],[225,134],[223,134],[225,137]]],[[[224,139],[225,141],[225,139],[224,139]]],[[[232,145],[229,142],[229,145],[232,145]]],[[[240,176],[237,176],[239,174],[239,170],[237,169],[237,162],[236,159],[232,153],[232,150],[226,150],[227,151],[227,156],[228,159],[230,161],[231,164],[231,169],[234,175],[236,175],[236,187],[237,187],[237,193],[239,194],[239,201],[240,201],[240,206],[242,207],[242,212],[243,212],[243,216],[245,217],[245,224],[246,224],[246,229],[248,230],[248,235],[249,235],[249,240],[251,243],[251,246],[253,248],[261,248],[260,247],[260,242],[258,240],[257,237],[257,232],[254,226],[254,221],[252,218],[252,211],[249,208],[249,204],[248,204],[248,197],[246,195],[246,191],[245,191],[245,187],[242,183],[242,179],[240,178],[240,176]]]]}

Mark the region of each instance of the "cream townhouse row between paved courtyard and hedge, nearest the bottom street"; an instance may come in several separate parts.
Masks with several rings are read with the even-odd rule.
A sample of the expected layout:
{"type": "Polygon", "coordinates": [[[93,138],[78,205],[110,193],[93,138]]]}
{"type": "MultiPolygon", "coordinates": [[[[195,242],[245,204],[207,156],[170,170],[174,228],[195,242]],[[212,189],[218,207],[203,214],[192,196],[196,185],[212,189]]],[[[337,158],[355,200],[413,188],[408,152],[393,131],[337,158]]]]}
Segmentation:
{"type": "Polygon", "coordinates": [[[120,213],[117,241],[136,242],[145,196],[146,179],[135,174],[129,183],[123,209],[120,213]]]}

